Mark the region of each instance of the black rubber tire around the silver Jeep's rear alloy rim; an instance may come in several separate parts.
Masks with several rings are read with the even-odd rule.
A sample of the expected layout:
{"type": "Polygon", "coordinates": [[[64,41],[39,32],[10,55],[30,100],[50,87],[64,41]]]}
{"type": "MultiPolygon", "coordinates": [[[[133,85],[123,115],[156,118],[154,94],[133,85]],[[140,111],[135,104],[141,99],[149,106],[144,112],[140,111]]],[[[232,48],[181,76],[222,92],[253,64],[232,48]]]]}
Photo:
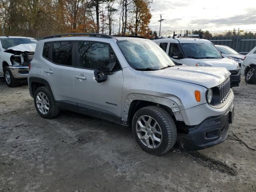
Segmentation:
{"type": "Polygon", "coordinates": [[[35,104],[36,110],[40,114],[40,116],[42,116],[43,118],[46,118],[46,119],[54,118],[60,112],[60,109],[58,108],[58,104],[56,103],[56,101],[54,100],[54,97],[52,95],[52,92],[45,86],[39,87],[36,89],[36,91],[34,93],[34,104],[35,104]],[[36,101],[37,96],[39,96],[38,94],[41,94],[41,93],[43,93],[48,99],[48,102],[44,103],[49,108],[48,112],[46,112],[45,114],[44,114],[45,109],[44,110],[42,110],[41,108],[39,109],[37,101],[36,101]],[[48,103],[48,104],[46,104],[46,103],[48,103]]]}

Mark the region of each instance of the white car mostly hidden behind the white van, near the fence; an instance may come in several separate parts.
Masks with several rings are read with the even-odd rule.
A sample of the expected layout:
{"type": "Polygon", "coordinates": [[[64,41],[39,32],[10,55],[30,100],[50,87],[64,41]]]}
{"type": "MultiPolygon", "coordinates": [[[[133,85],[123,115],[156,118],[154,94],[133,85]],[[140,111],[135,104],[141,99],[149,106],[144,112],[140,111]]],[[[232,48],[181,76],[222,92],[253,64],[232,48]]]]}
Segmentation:
{"type": "Polygon", "coordinates": [[[229,46],[226,45],[215,45],[216,48],[221,52],[222,56],[225,58],[229,58],[234,60],[239,64],[239,66],[242,66],[242,63],[244,61],[244,55],[238,53],[234,49],[230,48],[229,46]]]}

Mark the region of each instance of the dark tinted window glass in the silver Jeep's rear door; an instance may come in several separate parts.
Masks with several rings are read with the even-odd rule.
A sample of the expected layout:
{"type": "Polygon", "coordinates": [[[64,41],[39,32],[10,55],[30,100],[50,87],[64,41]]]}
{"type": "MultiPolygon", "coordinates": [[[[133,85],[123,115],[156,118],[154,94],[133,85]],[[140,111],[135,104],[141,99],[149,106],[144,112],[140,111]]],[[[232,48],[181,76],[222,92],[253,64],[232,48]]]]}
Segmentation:
{"type": "Polygon", "coordinates": [[[62,65],[72,65],[72,42],[54,42],[52,61],[62,65]]]}

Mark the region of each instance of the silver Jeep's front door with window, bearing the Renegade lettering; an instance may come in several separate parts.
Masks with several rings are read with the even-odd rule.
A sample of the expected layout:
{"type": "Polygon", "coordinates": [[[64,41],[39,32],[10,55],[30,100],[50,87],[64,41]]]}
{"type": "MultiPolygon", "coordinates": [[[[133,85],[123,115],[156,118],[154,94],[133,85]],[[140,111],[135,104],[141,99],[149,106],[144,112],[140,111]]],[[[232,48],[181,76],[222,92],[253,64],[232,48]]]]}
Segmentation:
{"type": "Polygon", "coordinates": [[[94,70],[114,59],[109,44],[101,42],[76,42],[78,60],[74,68],[75,97],[78,110],[90,116],[120,122],[123,74],[118,62],[107,80],[94,80],[94,70]]]}

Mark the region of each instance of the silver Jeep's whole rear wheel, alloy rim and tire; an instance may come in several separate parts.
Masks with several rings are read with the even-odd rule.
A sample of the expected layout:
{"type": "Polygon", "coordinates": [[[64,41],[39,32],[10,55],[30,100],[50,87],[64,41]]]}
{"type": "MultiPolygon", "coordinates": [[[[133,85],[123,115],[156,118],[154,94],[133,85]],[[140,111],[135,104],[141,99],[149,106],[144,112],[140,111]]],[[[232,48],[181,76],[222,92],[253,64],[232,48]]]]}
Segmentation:
{"type": "Polygon", "coordinates": [[[60,112],[50,90],[46,87],[39,87],[34,94],[34,104],[37,112],[43,118],[54,118],[60,112]]]}

